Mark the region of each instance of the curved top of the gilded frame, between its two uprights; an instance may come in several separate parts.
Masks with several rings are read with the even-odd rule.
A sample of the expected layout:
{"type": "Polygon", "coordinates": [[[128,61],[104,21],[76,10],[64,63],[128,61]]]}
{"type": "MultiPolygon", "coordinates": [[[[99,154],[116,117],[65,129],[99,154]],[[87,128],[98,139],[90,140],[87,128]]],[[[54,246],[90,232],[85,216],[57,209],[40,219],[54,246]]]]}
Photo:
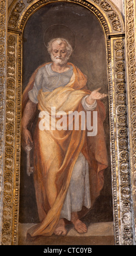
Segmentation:
{"type": "MultiPolygon", "coordinates": [[[[10,5],[8,15],[8,28],[22,31],[26,21],[33,13],[44,5],[53,3],[54,0],[16,0],[10,5]]],[[[62,2],[68,2],[64,0],[62,2]]],[[[115,4],[110,0],[72,0],[71,3],[77,3],[90,9],[100,20],[103,27],[108,25],[109,34],[121,34],[125,32],[125,26],[122,15],[115,4]]]]}

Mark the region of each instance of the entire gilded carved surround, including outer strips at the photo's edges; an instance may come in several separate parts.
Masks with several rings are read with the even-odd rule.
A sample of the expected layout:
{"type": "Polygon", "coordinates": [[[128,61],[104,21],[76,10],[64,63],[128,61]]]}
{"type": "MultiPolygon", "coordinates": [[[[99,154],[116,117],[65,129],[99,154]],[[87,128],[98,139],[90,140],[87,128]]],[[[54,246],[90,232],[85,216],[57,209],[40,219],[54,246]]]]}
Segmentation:
{"type": "Polygon", "coordinates": [[[17,245],[18,241],[23,28],[36,10],[53,2],[70,2],[88,8],[103,28],[109,80],[115,245],[134,245],[135,0],[125,2],[125,24],[120,11],[110,0],[14,0],[9,9],[7,1],[1,0],[0,242],[17,245]]]}

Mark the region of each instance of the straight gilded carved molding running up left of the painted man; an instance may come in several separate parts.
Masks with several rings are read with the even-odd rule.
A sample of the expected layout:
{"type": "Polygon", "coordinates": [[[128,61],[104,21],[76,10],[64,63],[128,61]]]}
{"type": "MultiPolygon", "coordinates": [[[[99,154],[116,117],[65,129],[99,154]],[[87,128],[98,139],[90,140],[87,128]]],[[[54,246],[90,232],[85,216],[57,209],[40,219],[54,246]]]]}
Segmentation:
{"type": "Polygon", "coordinates": [[[2,245],[17,244],[20,191],[21,41],[8,33],[2,245]],[[17,62],[18,59],[18,62],[17,62]]]}

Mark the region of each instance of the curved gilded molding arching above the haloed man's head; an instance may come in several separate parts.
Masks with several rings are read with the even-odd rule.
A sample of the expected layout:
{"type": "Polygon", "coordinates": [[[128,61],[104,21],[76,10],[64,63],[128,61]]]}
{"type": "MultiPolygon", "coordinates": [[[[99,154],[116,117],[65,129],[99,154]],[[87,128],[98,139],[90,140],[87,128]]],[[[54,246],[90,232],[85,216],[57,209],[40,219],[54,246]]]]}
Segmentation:
{"type": "MultiPolygon", "coordinates": [[[[63,2],[67,2],[69,0],[64,0],[63,2]]],[[[26,10],[31,8],[29,11],[33,13],[33,6],[36,4],[37,8],[41,5],[48,4],[50,2],[57,2],[57,0],[19,0],[16,1],[13,7],[9,10],[9,20],[8,27],[10,29],[19,29],[20,28],[20,19],[22,20],[22,16],[24,13],[26,14],[26,10]]],[[[123,33],[124,25],[121,14],[119,14],[115,5],[110,2],[110,0],[72,0],[71,2],[83,4],[89,9],[94,9],[96,7],[97,10],[102,13],[103,17],[109,22],[110,33],[123,33]]],[[[98,15],[96,14],[98,17],[98,15]]]]}

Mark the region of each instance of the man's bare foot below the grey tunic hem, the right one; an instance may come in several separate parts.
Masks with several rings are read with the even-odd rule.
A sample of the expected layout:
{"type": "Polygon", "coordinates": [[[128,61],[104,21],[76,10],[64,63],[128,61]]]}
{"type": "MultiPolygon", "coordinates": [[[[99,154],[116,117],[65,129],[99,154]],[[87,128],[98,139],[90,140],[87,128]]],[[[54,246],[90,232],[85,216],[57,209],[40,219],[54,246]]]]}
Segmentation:
{"type": "Polygon", "coordinates": [[[78,233],[86,233],[88,231],[88,228],[86,227],[86,225],[79,220],[77,212],[72,212],[71,222],[73,223],[78,233]]]}

